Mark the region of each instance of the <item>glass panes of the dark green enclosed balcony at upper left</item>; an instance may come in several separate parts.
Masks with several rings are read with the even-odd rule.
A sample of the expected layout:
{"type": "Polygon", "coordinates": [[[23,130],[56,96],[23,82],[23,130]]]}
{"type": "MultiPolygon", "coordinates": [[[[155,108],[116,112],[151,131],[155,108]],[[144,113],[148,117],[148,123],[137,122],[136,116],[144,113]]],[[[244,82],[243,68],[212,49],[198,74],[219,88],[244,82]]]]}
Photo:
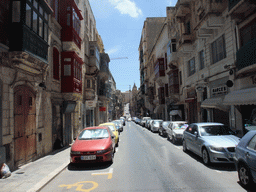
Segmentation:
{"type": "Polygon", "coordinates": [[[26,26],[48,41],[48,14],[37,0],[26,1],[26,26]]]}

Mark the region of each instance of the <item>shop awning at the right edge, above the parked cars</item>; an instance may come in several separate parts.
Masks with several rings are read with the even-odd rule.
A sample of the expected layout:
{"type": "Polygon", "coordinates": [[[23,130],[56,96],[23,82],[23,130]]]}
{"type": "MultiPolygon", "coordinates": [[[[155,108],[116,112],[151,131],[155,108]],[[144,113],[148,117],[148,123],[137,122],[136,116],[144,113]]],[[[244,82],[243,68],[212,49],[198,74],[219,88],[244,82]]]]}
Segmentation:
{"type": "Polygon", "coordinates": [[[232,91],[223,100],[223,105],[253,105],[256,104],[256,87],[232,91]]]}

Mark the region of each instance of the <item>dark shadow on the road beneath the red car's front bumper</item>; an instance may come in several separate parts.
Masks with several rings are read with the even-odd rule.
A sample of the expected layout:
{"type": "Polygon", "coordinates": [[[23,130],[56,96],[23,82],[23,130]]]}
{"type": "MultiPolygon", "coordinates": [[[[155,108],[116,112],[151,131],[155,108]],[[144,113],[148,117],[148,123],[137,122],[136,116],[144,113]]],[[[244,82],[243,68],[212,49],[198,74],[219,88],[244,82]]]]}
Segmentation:
{"type": "Polygon", "coordinates": [[[69,163],[68,170],[70,171],[91,171],[91,170],[100,170],[110,167],[112,163],[69,163]]]}

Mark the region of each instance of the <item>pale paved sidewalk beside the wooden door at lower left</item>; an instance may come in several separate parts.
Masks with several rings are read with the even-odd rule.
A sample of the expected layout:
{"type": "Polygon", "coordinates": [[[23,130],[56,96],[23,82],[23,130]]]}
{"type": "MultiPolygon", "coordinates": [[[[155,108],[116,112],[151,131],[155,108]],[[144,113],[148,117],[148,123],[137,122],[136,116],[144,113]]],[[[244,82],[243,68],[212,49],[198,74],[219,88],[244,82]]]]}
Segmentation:
{"type": "Polygon", "coordinates": [[[55,151],[34,162],[28,163],[6,179],[0,179],[0,191],[34,192],[40,190],[70,162],[70,147],[55,151]]]}

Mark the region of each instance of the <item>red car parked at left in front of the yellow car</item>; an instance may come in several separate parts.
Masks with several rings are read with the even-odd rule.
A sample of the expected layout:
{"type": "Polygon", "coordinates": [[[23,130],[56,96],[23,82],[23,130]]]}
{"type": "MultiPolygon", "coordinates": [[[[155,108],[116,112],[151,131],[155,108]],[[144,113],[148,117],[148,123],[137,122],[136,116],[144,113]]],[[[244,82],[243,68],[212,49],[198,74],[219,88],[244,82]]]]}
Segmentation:
{"type": "Polygon", "coordinates": [[[87,127],[71,146],[71,163],[113,162],[115,135],[108,127],[87,127]]]}

